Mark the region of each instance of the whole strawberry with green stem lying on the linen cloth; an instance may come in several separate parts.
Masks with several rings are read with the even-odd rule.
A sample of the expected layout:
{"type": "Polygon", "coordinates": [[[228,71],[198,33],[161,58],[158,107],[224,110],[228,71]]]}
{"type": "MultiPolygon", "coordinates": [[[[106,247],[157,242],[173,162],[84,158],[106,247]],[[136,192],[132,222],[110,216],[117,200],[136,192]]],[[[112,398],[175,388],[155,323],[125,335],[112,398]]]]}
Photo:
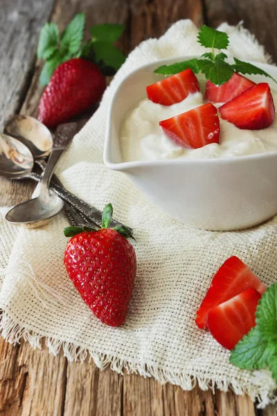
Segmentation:
{"type": "Polygon", "coordinates": [[[65,229],[73,237],[66,245],[64,265],[82,299],[103,323],[125,322],[136,277],[136,253],[125,227],[111,229],[111,204],[103,211],[102,228],[65,229]],[[123,233],[123,235],[120,234],[123,233]],[[75,235],[74,235],[75,234],[75,235]]]}

